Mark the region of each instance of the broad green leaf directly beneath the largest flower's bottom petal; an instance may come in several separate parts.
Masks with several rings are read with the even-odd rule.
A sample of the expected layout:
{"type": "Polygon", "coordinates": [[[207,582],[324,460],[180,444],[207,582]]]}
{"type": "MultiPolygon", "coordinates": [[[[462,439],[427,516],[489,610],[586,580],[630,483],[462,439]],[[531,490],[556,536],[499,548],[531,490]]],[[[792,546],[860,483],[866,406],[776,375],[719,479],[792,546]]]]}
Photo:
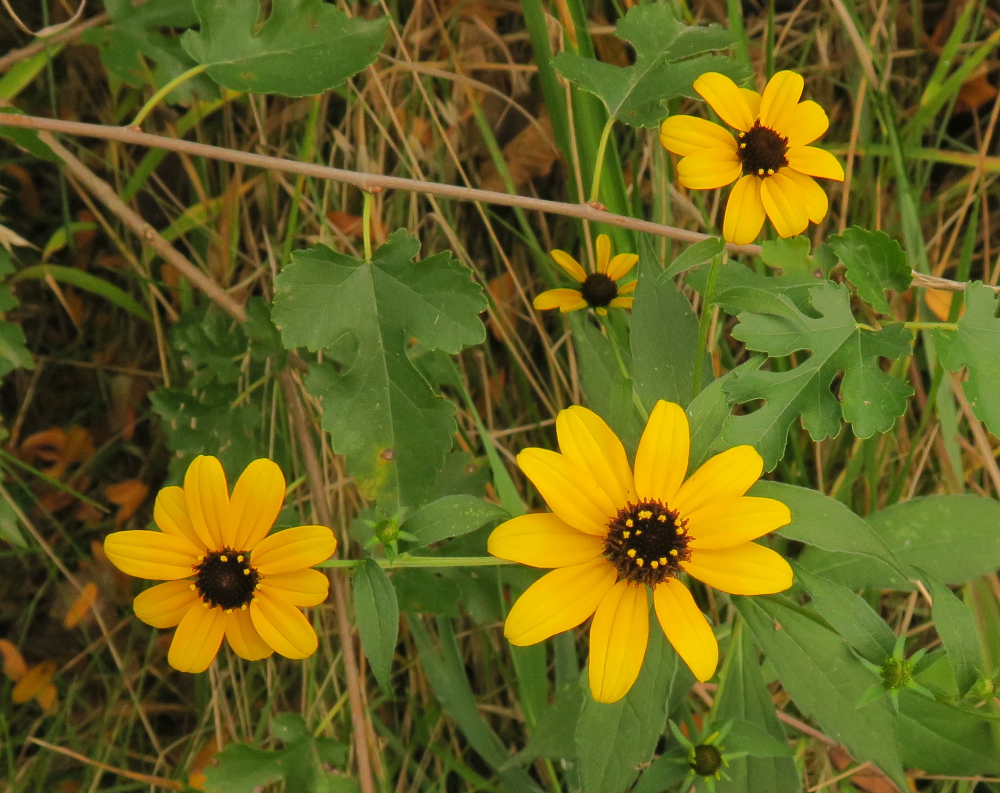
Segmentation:
{"type": "MultiPolygon", "coordinates": [[[[654,624],[642,671],[628,694],[607,705],[595,702],[587,689],[576,727],[582,793],[621,793],[631,786],[640,765],[652,759],[668,713],[692,682],[687,665],[654,624]]],[[[586,673],[580,685],[587,686],[586,673]]]]}

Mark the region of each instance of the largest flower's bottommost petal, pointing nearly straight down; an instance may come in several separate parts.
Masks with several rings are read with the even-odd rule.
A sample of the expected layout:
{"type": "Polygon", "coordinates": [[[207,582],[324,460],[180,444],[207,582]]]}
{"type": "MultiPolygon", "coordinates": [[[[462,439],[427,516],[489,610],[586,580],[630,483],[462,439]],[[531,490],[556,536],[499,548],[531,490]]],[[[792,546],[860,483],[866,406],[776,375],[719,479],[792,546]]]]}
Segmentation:
{"type": "Polygon", "coordinates": [[[646,587],[619,581],[601,600],[590,624],[590,693],[598,702],[624,697],[642,669],[649,642],[646,587]]]}

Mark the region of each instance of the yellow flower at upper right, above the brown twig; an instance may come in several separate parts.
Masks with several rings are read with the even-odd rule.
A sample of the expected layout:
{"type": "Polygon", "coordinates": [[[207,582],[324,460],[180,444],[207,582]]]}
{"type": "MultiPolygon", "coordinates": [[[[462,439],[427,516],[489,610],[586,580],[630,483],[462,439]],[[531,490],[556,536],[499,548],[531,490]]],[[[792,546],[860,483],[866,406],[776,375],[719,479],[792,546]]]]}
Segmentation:
{"type": "Polygon", "coordinates": [[[810,220],[819,223],[829,206],[812,177],[844,181],[837,159],[808,145],[830,122],[818,104],[799,101],[802,86],[801,75],[778,72],[761,96],[737,87],[723,74],[708,72],[694,81],[694,89],[739,130],[737,137],[694,116],[671,116],[660,127],[660,143],[684,158],[677,166],[682,185],[714,190],[736,182],[722,222],[727,242],[753,242],[765,213],[782,237],[801,234],[810,220]]]}

